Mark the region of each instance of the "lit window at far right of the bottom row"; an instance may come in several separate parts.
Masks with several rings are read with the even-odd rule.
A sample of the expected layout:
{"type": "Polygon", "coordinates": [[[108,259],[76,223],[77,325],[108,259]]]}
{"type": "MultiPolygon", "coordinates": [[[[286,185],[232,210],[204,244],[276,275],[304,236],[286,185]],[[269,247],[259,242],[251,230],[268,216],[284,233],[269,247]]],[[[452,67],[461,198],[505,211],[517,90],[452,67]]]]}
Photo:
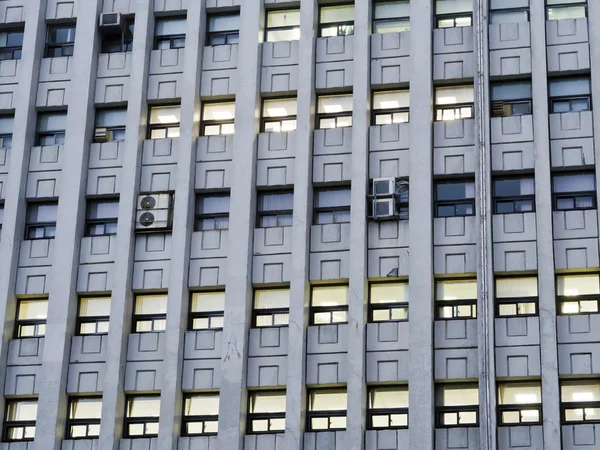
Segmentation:
{"type": "Polygon", "coordinates": [[[600,422],[600,381],[562,381],[560,401],[564,424],[600,422]]]}

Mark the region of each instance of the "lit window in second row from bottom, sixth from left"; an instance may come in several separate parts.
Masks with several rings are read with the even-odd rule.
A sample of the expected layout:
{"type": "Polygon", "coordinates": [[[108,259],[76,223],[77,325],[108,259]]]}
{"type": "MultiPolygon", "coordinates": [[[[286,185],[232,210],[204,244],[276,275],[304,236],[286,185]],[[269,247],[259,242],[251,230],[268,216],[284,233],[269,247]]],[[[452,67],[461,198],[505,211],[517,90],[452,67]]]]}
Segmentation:
{"type": "Polygon", "coordinates": [[[348,286],[313,286],[311,325],[348,322],[348,286]]]}

